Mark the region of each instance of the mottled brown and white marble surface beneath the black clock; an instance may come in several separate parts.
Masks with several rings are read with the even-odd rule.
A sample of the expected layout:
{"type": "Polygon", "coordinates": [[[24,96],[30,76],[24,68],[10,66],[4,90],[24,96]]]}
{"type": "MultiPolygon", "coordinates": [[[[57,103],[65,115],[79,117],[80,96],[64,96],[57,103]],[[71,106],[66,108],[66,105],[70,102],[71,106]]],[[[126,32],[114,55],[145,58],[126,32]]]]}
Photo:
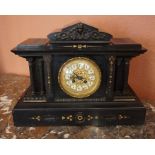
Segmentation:
{"type": "Polygon", "coordinates": [[[145,103],[146,122],[141,126],[15,127],[11,112],[28,85],[26,76],[0,75],[0,138],[155,138],[155,107],[149,103],[145,103]]]}

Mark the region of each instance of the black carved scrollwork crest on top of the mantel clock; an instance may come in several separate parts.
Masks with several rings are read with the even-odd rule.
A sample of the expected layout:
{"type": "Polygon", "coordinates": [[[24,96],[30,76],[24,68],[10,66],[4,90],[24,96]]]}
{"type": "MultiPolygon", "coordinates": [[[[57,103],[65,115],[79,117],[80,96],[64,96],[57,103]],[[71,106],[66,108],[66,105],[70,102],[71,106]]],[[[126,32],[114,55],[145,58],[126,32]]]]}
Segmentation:
{"type": "Polygon", "coordinates": [[[84,23],[77,23],[62,29],[61,32],[50,33],[48,39],[51,42],[74,42],[74,41],[103,41],[109,42],[111,34],[99,32],[95,27],[84,23]]]}

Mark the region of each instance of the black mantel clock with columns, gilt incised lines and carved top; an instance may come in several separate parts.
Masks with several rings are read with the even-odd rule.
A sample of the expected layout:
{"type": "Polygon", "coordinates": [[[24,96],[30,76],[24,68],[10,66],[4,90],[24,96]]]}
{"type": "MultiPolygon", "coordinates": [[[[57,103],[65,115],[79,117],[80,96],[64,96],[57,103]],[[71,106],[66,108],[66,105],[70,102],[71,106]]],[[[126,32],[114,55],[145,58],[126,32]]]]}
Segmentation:
{"type": "Polygon", "coordinates": [[[146,109],[128,85],[140,44],[78,23],[12,50],[31,84],[13,110],[16,126],[143,124],[146,109]]]}

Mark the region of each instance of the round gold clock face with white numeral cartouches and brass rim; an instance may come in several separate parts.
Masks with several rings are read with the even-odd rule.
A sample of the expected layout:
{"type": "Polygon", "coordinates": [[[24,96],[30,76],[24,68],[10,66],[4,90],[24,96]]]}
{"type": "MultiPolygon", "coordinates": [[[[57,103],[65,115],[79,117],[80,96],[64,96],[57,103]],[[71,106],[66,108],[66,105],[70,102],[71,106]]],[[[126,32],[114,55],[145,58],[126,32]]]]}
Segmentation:
{"type": "Polygon", "coordinates": [[[75,98],[84,98],[92,95],[99,88],[101,71],[94,61],[85,57],[75,57],[61,66],[58,81],[66,94],[75,98]]]}

